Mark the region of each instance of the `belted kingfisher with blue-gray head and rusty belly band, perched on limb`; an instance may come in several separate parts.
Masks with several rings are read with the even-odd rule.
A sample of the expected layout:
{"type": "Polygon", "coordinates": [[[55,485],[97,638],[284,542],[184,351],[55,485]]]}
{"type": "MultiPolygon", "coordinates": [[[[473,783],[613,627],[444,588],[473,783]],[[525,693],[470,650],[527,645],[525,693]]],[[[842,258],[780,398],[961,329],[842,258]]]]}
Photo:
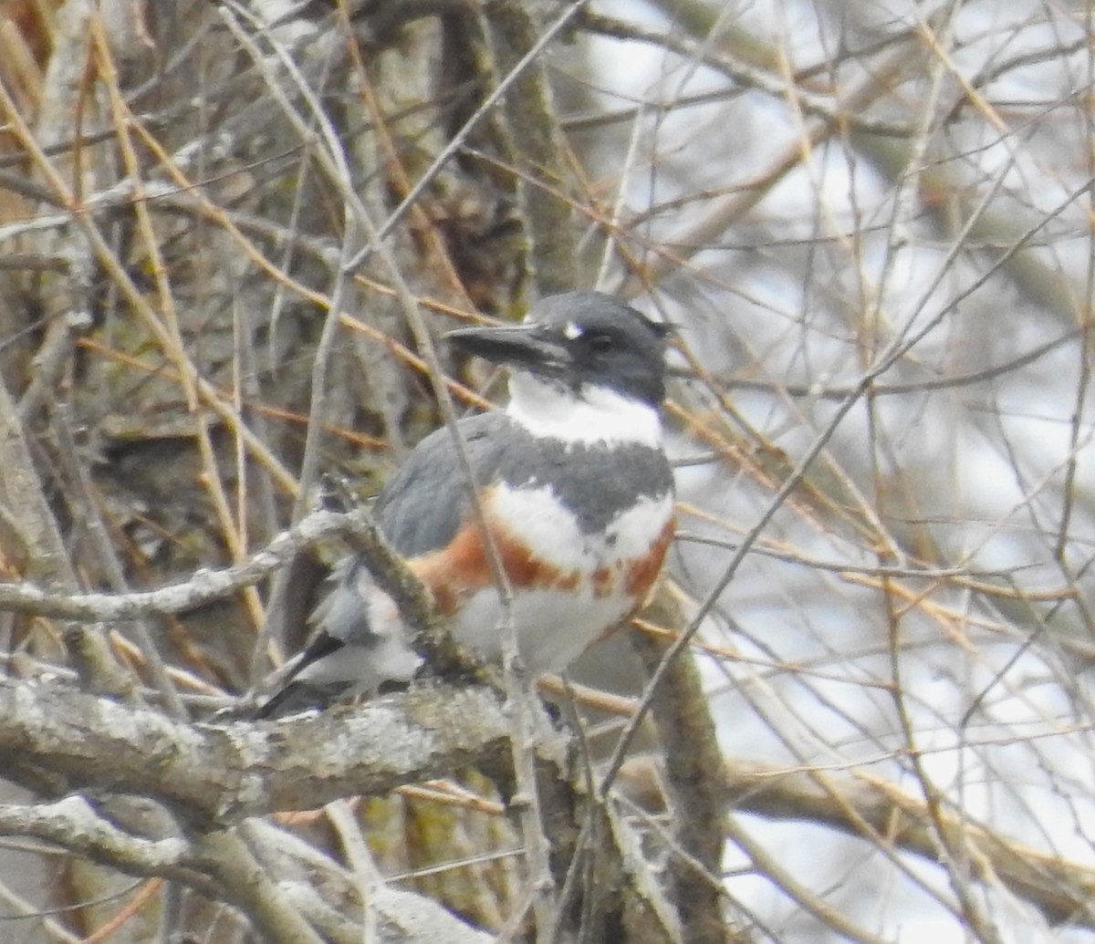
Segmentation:
{"type": "MultiPolygon", "coordinates": [[[[665,325],[592,291],[552,296],[519,325],[447,339],[509,369],[504,412],[459,421],[485,528],[512,591],[519,656],[561,671],[643,603],[673,533],[662,449],[665,325]]],[[[450,430],[430,434],[378,497],[374,519],[433,594],[454,638],[502,655],[503,608],[450,430]]],[[[256,715],[408,681],[422,659],[366,562],[338,562],[304,651],[256,715]]]]}

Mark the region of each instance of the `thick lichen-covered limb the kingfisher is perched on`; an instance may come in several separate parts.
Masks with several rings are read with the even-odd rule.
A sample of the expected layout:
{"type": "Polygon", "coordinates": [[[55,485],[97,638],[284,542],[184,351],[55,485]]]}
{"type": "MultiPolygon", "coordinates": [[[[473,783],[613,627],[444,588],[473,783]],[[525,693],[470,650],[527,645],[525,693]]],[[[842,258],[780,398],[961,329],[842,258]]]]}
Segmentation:
{"type": "Polygon", "coordinates": [[[70,689],[0,681],[0,755],[69,790],[155,799],[196,825],[380,796],[508,756],[485,688],[420,689],[278,724],[185,725],[70,689]]]}

